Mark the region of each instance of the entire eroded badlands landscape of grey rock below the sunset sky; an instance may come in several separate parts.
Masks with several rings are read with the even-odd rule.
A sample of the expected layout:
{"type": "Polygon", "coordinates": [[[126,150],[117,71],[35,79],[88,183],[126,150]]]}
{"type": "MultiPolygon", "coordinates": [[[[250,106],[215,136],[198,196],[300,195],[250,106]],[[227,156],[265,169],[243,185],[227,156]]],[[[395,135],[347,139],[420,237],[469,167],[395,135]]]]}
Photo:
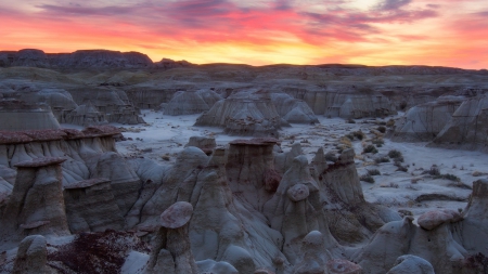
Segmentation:
{"type": "Polygon", "coordinates": [[[0,273],[488,273],[488,71],[0,52],[0,273]]]}

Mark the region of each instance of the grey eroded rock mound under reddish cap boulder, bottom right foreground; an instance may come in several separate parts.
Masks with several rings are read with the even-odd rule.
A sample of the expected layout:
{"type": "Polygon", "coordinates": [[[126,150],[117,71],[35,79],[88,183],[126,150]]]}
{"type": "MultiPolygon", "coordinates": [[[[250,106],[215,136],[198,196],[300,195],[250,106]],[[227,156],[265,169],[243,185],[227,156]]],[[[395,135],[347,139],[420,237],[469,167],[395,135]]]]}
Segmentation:
{"type": "Polygon", "coordinates": [[[428,217],[421,216],[419,220],[436,220],[439,225],[425,230],[413,225],[411,217],[386,223],[368,245],[357,251],[355,261],[365,273],[383,273],[398,264],[397,258],[400,256],[413,255],[428,261],[436,273],[459,273],[465,268],[467,252],[454,240],[449,227],[450,222],[455,220],[439,218],[442,213],[426,214],[428,217]],[[445,222],[440,223],[440,219],[445,222]]]}

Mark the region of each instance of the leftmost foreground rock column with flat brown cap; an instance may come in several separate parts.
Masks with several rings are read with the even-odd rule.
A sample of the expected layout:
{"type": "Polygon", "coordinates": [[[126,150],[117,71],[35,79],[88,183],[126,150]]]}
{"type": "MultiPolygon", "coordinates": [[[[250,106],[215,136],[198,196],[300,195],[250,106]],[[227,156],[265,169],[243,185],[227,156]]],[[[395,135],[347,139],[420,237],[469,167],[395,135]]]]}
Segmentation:
{"type": "Polygon", "coordinates": [[[43,157],[15,165],[17,175],[1,218],[2,235],[69,235],[64,207],[60,157],[43,157]]]}

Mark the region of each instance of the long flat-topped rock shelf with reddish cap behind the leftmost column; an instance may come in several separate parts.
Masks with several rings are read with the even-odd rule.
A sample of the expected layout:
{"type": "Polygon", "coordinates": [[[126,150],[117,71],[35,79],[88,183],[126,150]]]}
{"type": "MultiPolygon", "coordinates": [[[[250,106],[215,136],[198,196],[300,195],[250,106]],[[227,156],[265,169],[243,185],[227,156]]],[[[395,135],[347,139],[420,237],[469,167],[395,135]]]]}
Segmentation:
{"type": "MultiPolygon", "coordinates": [[[[66,198],[80,198],[76,201],[68,198],[74,203],[69,203],[69,207],[77,208],[70,219],[76,221],[70,222],[70,227],[75,231],[120,229],[124,227],[120,217],[125,217],[138,200],[142,183],[116,153],[113,138],[116,134],[119,131],[110,126],[90,127],[84,131],[64,129],[1,132],[0,165],[14,168],[18,162],[39,157],[64,157],[66,160],[61,167],[60,182],[65,188],[78,188],[67,191],[73,192],[76,197],[68,195],[66,198]],[[106,178],[110,183],[99,185],[97,181],[84,182],[97,178],[106,178]],[[98,206],[80,210],[78,207],[81,205],[98,206]],[[93,217],[89,217],[92,213],[93,217]],[[95,213],[111,217],[100,221],[95,220],[95,213]]],[[[8,173],[9,169],[5,169],[5,174],[8,173]]],[[[0,174],[2,175],[3,173],[0,174]]]]}

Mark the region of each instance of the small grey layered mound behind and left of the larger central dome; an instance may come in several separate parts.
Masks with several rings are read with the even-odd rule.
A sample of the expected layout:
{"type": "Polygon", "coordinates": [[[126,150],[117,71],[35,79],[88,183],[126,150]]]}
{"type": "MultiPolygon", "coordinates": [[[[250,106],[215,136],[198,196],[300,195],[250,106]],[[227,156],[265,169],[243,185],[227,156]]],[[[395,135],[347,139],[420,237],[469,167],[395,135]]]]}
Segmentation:
{"type": "Polygon", "coordinates": [[[222,97],[213,90],[178,91],[163,110],[165,115],[201,114],[222,97]]]}

